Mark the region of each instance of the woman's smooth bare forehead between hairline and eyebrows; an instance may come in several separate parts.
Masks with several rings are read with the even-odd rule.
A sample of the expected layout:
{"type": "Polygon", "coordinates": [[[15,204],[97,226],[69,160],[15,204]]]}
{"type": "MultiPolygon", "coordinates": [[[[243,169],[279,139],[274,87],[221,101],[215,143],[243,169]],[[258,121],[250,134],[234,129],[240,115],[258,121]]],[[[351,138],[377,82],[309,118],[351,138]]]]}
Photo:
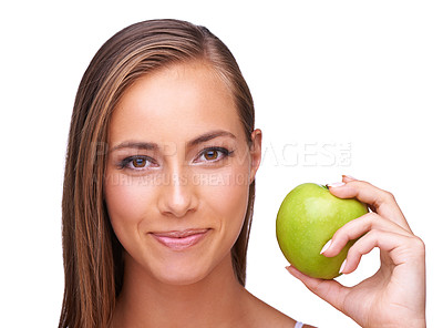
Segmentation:
{"type": "Polygon", "coordinates": [[[243,132],[230,90],[207,65],[176,64],[126,90],[112,115],[110,141],[188,140],[214,130],[243,132]]]}

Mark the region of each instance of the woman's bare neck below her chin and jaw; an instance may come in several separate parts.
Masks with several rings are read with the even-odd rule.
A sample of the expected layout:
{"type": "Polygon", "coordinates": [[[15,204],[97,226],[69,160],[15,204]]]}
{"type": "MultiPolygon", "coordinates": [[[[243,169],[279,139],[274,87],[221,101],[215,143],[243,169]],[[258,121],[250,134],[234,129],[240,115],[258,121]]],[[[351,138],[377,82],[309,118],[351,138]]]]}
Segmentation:
{"type": "Polygon", "coordinates": [[[113,327],[233,327],[247,318],[249,293],[238,283],[230,256],[190,285],[161,283],[126,265],[113,327]]]}

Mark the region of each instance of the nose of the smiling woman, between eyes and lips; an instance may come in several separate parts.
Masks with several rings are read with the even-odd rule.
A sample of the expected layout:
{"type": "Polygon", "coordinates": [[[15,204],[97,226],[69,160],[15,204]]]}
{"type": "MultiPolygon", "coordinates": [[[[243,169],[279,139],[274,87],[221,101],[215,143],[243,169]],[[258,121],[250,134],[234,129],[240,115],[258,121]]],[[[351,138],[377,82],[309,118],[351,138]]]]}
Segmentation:
{"type": "Polygon", "coordinates": [[[171,174],[161,188],[158,208],[162,214],[184,217],[197,209],[196,186],[183,172],[171,174]]]}

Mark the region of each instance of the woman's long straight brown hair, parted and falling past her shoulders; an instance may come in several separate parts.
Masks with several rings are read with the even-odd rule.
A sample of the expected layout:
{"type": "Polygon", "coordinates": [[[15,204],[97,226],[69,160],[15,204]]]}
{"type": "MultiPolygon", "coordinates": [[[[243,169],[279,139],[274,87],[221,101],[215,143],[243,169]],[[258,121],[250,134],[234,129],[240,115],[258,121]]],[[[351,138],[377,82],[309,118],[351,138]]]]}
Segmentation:
{"type": "MultiPolygon", "coordinates": [[[[135,23],[106,41],[85,71],[75,98],[64,173],[65,287],[59,327],[106,327],[122,289],[122,245],[111,227],[103,194],[113,109],[143,74],[195,60],[209,63],[229,86],[250,145],[255,117],[248,85],[228,48],[204,27],[178,20],[135,23]]],[[[243,286],[254,197],[255,181],[231,249],[234,271],[243,286]]]]}

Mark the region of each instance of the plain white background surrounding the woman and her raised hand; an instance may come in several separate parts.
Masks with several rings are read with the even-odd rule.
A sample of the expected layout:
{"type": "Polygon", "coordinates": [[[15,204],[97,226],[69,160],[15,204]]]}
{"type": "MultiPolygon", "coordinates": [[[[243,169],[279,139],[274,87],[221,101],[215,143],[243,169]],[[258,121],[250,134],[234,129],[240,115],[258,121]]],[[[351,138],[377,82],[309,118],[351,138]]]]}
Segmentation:
{"type": "MultiPolygon", "coordinates": [[[[104,41],[154,18],[208,27],[255,98],[264,157],[247,288],[298,320],[357,327],[285,270],[275,238],[278,207],[292,187],[350,174],[392,192],[424,239],[429,327],[440,325],[441,1],[10,3],[0,13],[1,327],[58,325],[62,177],[76,88],[104,41]]],[[[377,258],[368,255],[340,280],[372,274],[377,258]]]]}

